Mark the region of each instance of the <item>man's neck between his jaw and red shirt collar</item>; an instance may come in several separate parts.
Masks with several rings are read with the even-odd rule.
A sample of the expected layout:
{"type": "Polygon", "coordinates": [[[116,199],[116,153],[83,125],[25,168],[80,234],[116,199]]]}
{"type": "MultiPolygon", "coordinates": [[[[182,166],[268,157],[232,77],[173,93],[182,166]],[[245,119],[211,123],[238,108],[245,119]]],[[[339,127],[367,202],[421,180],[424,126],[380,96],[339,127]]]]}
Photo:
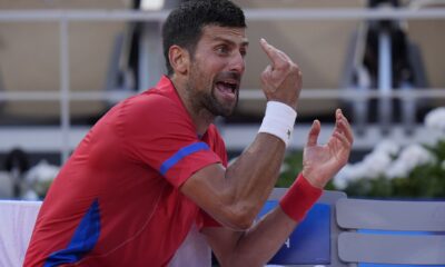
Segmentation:
{"type": "Polygon", "coordinates": [[[210,126],[210,123],[214,122],[215,116],[210,113],[206,108],[197,107],[196,105],[194,105],[194,102],[191,101],[191,96],[187,90],[186,80],[181,79],[176,75],[170,77],[170,80],[174,83],[179,95],[179,98],[181,99],[184,106],[186,107],[188,113],[191,117],[191,120],[195,123],[197,131],[196,134],[202,136],[204,134],[206,134],[207,128],[210,126]]]}

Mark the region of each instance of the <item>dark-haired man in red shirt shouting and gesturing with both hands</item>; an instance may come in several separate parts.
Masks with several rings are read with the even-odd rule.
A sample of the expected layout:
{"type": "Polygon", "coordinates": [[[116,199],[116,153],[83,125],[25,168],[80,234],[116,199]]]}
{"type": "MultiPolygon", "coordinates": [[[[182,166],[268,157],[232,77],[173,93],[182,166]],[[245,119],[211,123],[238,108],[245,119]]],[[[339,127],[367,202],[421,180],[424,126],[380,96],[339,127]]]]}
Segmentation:
{"type": "Polygon", "coordinates": [[[238,101],[245,27],[228,0],[189,1],[170,13],[168,76],[88,132],[44,199],[24,266],[167,266],[192,227],[224,266],[267,263],[347,162],[353,134],[337,110],[328,144],[318,146],[315,120],[303,172],[254,225],[294,129],[301,73],[260,40],[270,59],[261,73],[266,115],[253,144],[227,166],[212,121],[238,101]]]}

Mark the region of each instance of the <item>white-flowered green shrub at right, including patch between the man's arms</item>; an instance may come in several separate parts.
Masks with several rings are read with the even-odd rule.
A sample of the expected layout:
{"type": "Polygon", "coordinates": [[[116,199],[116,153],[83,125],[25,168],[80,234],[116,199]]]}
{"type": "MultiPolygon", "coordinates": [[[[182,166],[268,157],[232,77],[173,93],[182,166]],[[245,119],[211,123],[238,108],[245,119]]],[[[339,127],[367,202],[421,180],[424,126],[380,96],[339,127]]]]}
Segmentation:
{"type": "MultiPolygon", "coordinates": [[[[358,197],[445,197],[445,108],[425,117],[425,127],[439,131],[433,145],[397,145],[384,140],[356,164],[346,165],[326,189],[358,197]]],[[[288,186],[301,169],[301,154],[289,155],[277,186],[288,186]]]]}

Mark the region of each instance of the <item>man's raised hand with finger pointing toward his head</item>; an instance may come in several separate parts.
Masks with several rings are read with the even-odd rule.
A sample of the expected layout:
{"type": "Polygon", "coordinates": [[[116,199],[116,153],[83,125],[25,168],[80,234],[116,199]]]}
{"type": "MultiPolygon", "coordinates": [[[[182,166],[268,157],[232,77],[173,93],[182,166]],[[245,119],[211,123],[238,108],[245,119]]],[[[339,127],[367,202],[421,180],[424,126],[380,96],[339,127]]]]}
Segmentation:
{"type": "Polygon", "coordinates": [[[301,90],[301,71],[283,51],[260,39],[260,46],[270,60],[261,73],[263,91],[268,101],[280,101],[297,108],[301,90]]]}

